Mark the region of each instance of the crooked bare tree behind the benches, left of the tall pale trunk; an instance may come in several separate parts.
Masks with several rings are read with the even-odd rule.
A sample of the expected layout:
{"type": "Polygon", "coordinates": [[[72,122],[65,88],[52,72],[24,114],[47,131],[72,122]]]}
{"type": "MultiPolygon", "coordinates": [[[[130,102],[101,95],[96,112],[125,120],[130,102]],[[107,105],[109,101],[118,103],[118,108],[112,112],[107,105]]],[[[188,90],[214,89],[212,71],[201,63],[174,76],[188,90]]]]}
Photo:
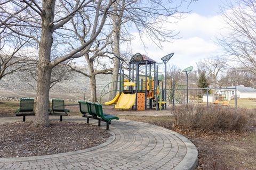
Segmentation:
{"type": "MultiPolygon", "coordinates": [[[[68,11],[68,9],[66,9],[68,11]]],[[[83,9],[79,11],[76,18],[70,20],[72,28],[63,27],[65,30],[69,30],[73,33],[73,38],[76,38],[79,45],[84,45],[85,37],[88,37],[93,29],[94,21],[91,21],[90,15],[83,9]]],[[[69,25],[67,25],[69,26],[69,25]]],[[[85,77],[90,78],[91,87],[91,101],[97,101],[97,87],[96,87],[96,75],[98,74],[112,74],[113,67],[111,63],[114,62],[112,54],[111,39],[112,30],[108,30],[106,27],[101,31],[99,36],[84,49],[84,59],[86,61],[85,69],[77,66],[76,63],[68,65],[72,71],[83,74],[85,77]]],[[[75,47],[76,45],[73,45],[75,47]]],[[[79,65],[79,64],[78,64],[79,65]]]]}

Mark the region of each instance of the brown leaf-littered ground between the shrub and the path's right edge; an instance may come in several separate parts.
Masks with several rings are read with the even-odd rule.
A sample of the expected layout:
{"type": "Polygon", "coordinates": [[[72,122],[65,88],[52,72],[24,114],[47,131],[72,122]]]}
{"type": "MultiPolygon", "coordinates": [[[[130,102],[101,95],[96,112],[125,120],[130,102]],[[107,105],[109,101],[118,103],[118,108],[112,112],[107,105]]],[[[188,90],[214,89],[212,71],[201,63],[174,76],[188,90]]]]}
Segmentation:
{"type": "Polygon", "coordinates": [[[198,150],[197,169],[256,169],[256,128],[245,132],[184,131],[198,150]]]}

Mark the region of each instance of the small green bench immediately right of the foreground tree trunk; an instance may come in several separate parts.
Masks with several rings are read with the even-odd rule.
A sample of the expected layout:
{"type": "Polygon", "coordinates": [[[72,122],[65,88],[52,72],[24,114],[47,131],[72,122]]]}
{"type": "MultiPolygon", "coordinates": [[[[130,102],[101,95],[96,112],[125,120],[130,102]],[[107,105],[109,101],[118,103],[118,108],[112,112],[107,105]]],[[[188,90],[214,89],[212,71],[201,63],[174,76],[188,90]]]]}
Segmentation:
{"type": "Polygon", "coordinates": [[[62,116],[68,116],[69,109],[65,109],[64,100],[52,99],[52,112],[53,113],[50,112],[49,115],[50,116],[60,116],[60,122],[62,122],[62,116]],[[61,112],[61,113],[59,113],[59,112],[61,112]]]}

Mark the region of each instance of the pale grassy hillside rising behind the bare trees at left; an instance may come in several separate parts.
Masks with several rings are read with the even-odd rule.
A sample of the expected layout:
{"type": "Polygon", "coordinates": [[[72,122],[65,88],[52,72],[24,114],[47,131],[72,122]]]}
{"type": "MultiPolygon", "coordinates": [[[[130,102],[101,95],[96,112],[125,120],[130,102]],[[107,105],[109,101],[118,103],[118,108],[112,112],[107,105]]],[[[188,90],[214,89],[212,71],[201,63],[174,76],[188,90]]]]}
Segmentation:
{"type": "MultiPolygon", "coordinates": [[[[12,75],[6,75],[0,80],[0,96],[2,97],[35,97],[36,82],[33,81],[28,84],[25,80],[22,80],[22,73],[15,73],[12,75]]],[[[96,77],[97,81],[97,94],[98,97],[102,89],[107,83],[111,82],[111,75],[99,74],[96,77]]],[[[86,93],[86,99],[89,99],[90,79],[82,74],[73,72],[71,78],[66,81],[55,84],[50,90],[51,98],[63,98],[63,99],[84,99],[84,91],[86,93]]]]}

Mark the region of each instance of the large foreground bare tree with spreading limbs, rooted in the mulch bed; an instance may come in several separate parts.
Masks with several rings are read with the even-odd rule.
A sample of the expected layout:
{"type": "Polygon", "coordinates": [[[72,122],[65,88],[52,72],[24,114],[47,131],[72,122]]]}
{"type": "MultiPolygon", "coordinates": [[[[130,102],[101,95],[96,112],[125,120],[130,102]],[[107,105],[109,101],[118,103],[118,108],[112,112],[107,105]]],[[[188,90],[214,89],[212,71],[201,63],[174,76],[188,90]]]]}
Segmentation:
{"type": "Polygon", "coordinates": [[[33,40],[36,48],[39,49],[36,116],[32,126],[49,126],[49,90],[53,67],[71,58],[81,57],[86,53],[85,48],[101,32],[114,2],[115,0],[6,0],[0,3],[0,26],[13,31],[16,35],[33,40]],[[68,48],[68,44],[61,44],[58,40],[70,39],[71,41],[72,37],[69,36],[69,32],[65,32],[61,28],[63,25],[69,24],[70,20],[76,17],[82,9],[90,13],[91,18],[94,18],[93,29],[90,36],[84,38],[85,43],[83,45],[73,49],[70,48],[71,42],[68,48]],[[58,51],[62,51],[60,57],[51,57],[53,46],[58,46],[58,51]]]}

